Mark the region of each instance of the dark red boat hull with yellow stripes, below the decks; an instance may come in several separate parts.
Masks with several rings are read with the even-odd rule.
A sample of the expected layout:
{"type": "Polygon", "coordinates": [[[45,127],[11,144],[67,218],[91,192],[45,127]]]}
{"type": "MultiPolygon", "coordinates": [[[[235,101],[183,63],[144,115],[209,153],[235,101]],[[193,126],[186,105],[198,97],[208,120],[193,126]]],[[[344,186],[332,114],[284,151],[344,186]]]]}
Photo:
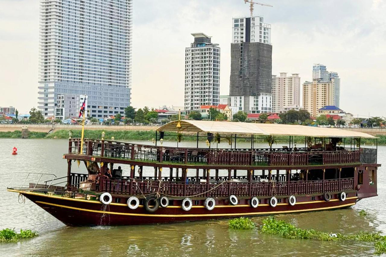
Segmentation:
{"type": "Polygon", "coordinates": [[[356,193],[349,193],[345,201],[339,199],[332,199],[329,202],[306,201],[310,198],[299,197],[295,206],[288,203],[279,203],[276,207],[260,204],[257,208],[252,208],[247,204],[216,205],[212,211],[205,209],[204,206],[194,206],[190,211],[184,211],[180,206],[168,206],[159,208],[154,213],[148,213],[143,206],[131,210],[123,203],[112,203],[106,206],[93,200],[64,198],[26,191],[21,191],[21,193],[69,226],[141,225],[331,210],[352,206],[358,199],[356,193]]]}

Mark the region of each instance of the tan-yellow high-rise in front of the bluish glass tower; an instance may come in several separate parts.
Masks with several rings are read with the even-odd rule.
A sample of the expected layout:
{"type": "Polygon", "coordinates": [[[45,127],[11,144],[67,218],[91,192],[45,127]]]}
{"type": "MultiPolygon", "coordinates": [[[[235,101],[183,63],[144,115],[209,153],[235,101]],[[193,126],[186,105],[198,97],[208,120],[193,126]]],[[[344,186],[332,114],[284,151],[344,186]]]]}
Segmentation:
{"type": "Polygon", "coordinates": [[[334,78],[322,81],[320,78],[303,83],[303,107],[314,117],[317,111],[334,102],[334,78]]]}

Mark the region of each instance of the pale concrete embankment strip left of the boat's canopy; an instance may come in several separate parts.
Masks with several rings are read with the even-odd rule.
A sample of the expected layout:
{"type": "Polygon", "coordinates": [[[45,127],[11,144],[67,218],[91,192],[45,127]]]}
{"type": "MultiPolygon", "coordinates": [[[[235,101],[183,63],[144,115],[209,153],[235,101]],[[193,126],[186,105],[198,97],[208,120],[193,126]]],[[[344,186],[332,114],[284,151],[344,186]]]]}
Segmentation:
{"type": "MultiPolygon", "coordinates": [[[[13,132],[21,131],[22,127],[27,127],[30,132],[44,132],[48,133],[53,129],[53,131],[58,130],[81,130],[82,126],[80,125],[52,125],[52,124],[1,124],[0,132],[13,132]]],[[[158,126],[131,126],[131,125],[122,125],[122,126],[106,126],[106,125],[86,125],[86,130],[104,130],[104,131],[152,131],[156,130],[158,126]]]]}

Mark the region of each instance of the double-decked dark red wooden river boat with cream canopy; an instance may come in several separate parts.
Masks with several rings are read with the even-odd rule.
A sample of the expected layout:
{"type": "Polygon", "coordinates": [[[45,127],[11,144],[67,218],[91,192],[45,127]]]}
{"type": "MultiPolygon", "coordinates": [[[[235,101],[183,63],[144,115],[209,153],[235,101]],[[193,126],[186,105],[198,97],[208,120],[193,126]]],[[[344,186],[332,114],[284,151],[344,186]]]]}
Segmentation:
{"type": "Polygon", "coordinates": [[[104,136],[68,140],[68,153],[63,155],[67,176],[26,173],[24,179],[18,173],[8,191],[27,197],[69,226],[335,210],[377,196],[377,138],[360,132],[175,120],[158,127],[149,145],[104,136]],[[178,146],[188,137],[197,147],[178,146]],[[164,139],[175,139],[177,146],[164,146],[164,139]],[[286,144],[275,147],[278,139],[286,144]],[[238,146],[241,140],[248,148],[246,143],[238,146]],[[199,147],[203,141],[206,147],[199,147]],[[374,145],[364,146],[369,141],[374,145]],[[258,148],[262,142],[266,148],[258,148]],[[228,147],[220,148],[219,143],[228,147]],[[85,165],[88,174],[76,173],[76,164],[85,165]],[[130,171],[127,176],[122,167],[130,171]],[[38,180],[29,181],[32,176],[38,180]],[[52,178],[44,181],[44,176],[52,178]]]}

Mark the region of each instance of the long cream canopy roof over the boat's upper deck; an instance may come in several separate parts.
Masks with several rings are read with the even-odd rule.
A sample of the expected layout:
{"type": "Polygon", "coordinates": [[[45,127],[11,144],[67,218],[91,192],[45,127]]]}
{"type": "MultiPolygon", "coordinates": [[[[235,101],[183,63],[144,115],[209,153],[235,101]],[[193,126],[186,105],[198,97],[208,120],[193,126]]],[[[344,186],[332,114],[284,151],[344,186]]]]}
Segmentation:
{"type": "Polygon", "coordinates": [[[327,127],[204,120],[174,120],[164,124],[163,126],[160,126],[157,131],[196,133],[207,132],[319,138],[376,138],[361,132],[332,129],[327,127]],[[177,127],[178,122],[180,123],[181,127],[177,127]]]}

